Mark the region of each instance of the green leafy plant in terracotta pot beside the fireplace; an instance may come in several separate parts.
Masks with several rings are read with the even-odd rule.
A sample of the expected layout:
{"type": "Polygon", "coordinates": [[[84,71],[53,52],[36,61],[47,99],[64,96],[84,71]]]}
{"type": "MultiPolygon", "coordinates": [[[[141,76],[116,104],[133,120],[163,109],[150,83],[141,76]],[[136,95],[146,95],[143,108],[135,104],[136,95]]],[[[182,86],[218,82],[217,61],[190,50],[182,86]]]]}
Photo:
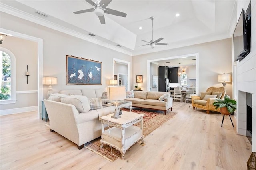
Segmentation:
{"type": "Polygon", "coordinates": [[[236,100],[230,99],[228,95],[225,95],[224,100],[216,99],[213,103],[215,108],[220,108],[220,113],[223,115],[230,115],[236,110],[236,100]]]}

